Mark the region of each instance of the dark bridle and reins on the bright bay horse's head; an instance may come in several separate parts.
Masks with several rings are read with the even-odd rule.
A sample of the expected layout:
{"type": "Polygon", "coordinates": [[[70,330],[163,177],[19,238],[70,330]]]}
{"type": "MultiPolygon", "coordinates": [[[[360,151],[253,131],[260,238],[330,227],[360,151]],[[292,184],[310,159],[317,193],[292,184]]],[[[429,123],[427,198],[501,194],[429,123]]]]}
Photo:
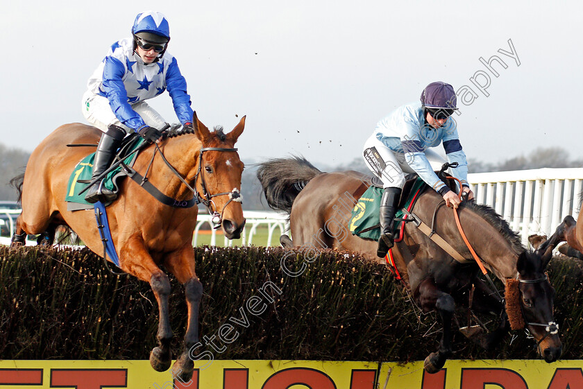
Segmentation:
{"type": "MultiPolygon", "coordinates": [[[[201,202],[202,204],[204,204],[207,207],[208,213],[212,216],[211,221],[214,224],[213,228],[216,230],[217,228],[221,227],[221,223],[223,221],[223,212],[225,211],[225,208],[227,207],[227,205],[230,204],[231,201],[241,202],[241,200],[242,200],[241,192],[239,191],[239,189],[234,188],[233,191],[230,191],[230,192],[215,193],[215,194],[209,193],[209,191],[206,187],[205,176],[203,174],[201,174],[202,166],[203,166],[203,153],[205,151],[237,151],[237,148],[226,148],[226,147],[203,147],[203,148],[201,148],[200,152],[198,153],[198,169],[196,170],[196,174],[194,175],[194,188],[193,188],[188,184],[188,182],[186,182],[186,180],[182,177],[182,175],[180,175],[180,173],[178,173],[178,171],[176,171],[174,166],[172,166],[170,164],[170,162],[168,162],[166,157],[164,157],[164,153],[162,153],[162,150],[160,150],[160,147],[158,146],[158,144],[155,144],[155,147],[156,147],[156,150],[160,152],[160,157],[162,157],[162,160],[170,168],[172,173],[174,173],[174,175],[176,175],[176,177],[178,177],[178,179],[181,182],[183,182],[183,184],[185,184],[185,186],[189,189],[189,191],[192,191],[192,193],[194,193],[194,196],[196,196],[197,202],[201,202]],[[198,190],[196,189],[196,180],[198,180],[198,177],[201,178],[201,187],[203,188],[203,196],[201,196],[201,193],[198,193],[198,190]],[[227,195],[229,196],[229,200],[226,202],[223,209],[221,209],[221,213],[217,212],[217,208],[214,205],[214,201],[212,201],[212,198],[217,197],[217,196],[227,196],[227,195]]],[[[155,153],[154,153],[154,155],[155,155],[155,153]]],[[[153,161],[153,157],[152,157],[152,161],[153,161]]],[[[147,173],[146,173],[146,175],[147,175],[147,173]]]]}

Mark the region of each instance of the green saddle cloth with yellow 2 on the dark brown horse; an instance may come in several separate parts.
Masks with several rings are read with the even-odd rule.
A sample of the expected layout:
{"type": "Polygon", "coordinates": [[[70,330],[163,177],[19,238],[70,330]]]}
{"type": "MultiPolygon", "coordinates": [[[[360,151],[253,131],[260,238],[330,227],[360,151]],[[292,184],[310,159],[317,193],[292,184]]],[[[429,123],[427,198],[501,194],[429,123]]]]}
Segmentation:
{"type": "MultiPolygon", "coordinates": [[[[407,195],[407,201],[403,207],[399,207],[395,214],[395,218],[403,217],[403,208],[409,207],[411,204],[415,193],[419,191],[425,185],[425,182],[421,178],[416,178],[409,194],[407,195]]],[[[360,196],[357,204],[355,205],[348,226],[350,227],[350,232],[354,235],[359,236],[364,239],[373,239],[378,241],[380,238],[380,199],[382,197],[384,189],[369,187],[366,192],[360,196]]],[[[403,201],[401,201],[403,203],[403,201]]],[[[400,223],[393,223],[394,229],[398,230],[398,225],[400,223]]]]}

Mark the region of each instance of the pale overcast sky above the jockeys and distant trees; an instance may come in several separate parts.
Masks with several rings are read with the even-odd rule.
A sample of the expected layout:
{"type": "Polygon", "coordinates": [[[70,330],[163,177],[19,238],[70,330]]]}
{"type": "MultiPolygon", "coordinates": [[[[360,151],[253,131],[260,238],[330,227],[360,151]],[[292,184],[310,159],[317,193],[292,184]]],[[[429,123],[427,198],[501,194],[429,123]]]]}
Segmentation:
{"type": "MultiPolygon", "coordinates": [[[[230,130],[247,115],[242,159],[295,153],[316,164],[350,162],[383,116],[419,101],[436,80],[478,96],[470,105],[458,98],[470,163],[549,146],[566,148],[573,159],[582,154],[580,1],[24,4],[1,6],[7,146],[31,151],[61,124],[83,122],[81,96],[108,47],[130,36],[137,13],[159,10],[198,118],[230,130]],[[499,51],[512,53],[509,40],[515,58],[499,51]],[[480,62],[493,55],[506,65],[491,63],[498,77],[480,62]],[[489,83],[489,96],[474,76],[489,83]]],[[[167,93],[149,103],[177,121],[167,93]]]]}

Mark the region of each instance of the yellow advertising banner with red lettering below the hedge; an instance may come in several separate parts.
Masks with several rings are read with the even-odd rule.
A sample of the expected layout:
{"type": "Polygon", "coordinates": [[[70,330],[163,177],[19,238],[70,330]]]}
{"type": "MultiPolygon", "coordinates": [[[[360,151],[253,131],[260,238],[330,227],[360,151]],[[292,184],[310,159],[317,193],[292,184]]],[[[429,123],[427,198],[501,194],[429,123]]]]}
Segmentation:
{"type": "Polygon", "coordinates": [[[149,361],[0,361],[0,389],[583,389],[583,360],[423,362],[196,361],[192,380],[149,361]]]}

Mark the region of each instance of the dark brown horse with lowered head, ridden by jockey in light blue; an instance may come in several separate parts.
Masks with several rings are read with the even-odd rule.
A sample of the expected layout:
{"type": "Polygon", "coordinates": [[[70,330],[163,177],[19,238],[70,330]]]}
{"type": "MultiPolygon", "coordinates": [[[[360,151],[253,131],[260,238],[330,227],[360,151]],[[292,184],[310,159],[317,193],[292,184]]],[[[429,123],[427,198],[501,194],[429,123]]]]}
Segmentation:
{"type": "MultiPolygon", "coordinates": [[[[302,157],[290,157],[270,159],[260,164],[257,178],[269,207],[289,214],[293,241],[282,235],[280,241],[284,247],[350,250],[385,264],[385,259],[376,255],[376,241],[361,239],[350,234],[348,229],[350,211],[370,185],[370,178],[366,175],[356,171],[323,173],[302,157]]],[[[445,202],[439,193],[428,189],[419,195],[412,211],[426,225],[432,225],[432,230],[464,259],[471,259],[471,252],[456,227],[453,210],[443,205],[445,202]]],[[[556,361],[562,346],[552,313],[555,290],[544,272],[552,257],[552,249],[544,252],[543,256],[527,252],[508,223],[486,205],[464,201],[458,212],[463,230],[475,252],[506,285],[507,291],[510,289],[516,296],[516,310],[512,316],[517,318],[514,320],[526,323],[545,361],[556,361]],[[516,289],[509,288],[512,285],[516,289]]],[[[425,358],[424,365],[427,372],[438,372],[452,354],[450,327],[455,311],[453,295],[474,283],[476,291],[480,291],[474,298],[480,295],[480,304],[485,311],[491,311],[493,307],[502,311],[502,298],[493,297],[486,284],[479,281],[475,261],[459,263],[414,223],[405,224],[403,240],[396,243],[393,252],[397,268],[412,291],[416,304],[425,313],[437,311],[441,317],[443,334],[439,349],[425,358]]],[[[508,314],[511,315],[511,312],[508,311],[508,314]]],[[[480,343],[486,347],[498,343],[511,324],[503,320],[500,327],[484,336],[480,343]]]]}

